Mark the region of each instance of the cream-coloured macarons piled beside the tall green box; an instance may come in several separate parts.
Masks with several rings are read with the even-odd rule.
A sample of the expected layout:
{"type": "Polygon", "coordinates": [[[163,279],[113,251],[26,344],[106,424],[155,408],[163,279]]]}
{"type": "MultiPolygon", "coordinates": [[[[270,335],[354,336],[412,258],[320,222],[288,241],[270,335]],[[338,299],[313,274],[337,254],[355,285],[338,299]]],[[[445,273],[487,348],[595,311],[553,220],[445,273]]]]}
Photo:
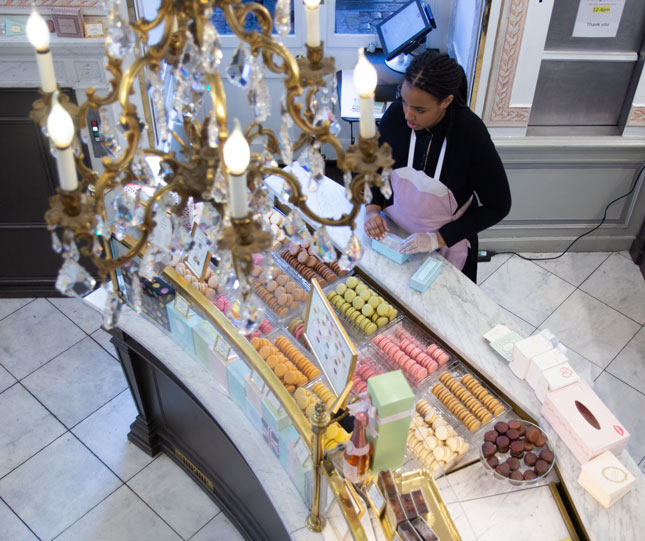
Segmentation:
{"type": "Polygon", "coordinates": [[[470,445],[427,400],[415,405],[416,413],[408,431],[408,450],[417,461],[431,472],[445,469],[470,445]]]}

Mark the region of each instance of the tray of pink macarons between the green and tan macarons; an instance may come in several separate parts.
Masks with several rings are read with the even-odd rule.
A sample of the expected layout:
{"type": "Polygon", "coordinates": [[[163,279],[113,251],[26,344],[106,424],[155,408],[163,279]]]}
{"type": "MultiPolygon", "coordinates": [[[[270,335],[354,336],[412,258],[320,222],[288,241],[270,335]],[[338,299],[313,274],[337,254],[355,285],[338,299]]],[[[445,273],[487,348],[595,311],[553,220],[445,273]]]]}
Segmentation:
{"type": "Polygon", "coordinates": [[[425,389],[430,376],[454,358],[412,322],[401,319],[374,336],[371,354],[389,370],[401,370],[413,388],[425,389]]]}

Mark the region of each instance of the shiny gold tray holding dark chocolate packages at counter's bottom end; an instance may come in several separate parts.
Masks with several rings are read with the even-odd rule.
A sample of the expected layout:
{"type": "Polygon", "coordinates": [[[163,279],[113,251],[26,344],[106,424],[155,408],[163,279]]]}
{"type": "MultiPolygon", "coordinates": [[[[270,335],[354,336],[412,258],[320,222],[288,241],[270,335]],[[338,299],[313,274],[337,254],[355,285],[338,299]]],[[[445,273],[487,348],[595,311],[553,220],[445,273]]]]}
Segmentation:
{"type": "MultiPolygon", "coordinates": [[[[416,470],[400,474],[392,473],[399,493],[404,494],[419,489],[423,492],[430,512],[422,516],[434,533],[437,534],[439,541],[461,541],[459,532],[450,517],[448,508],[443,503],[437,484],[430,472],[427,470],[416,470]]],[[[396,531],[396,519],[394,518],[392,510],[387,506],[381,524],[388,539],[392,539],[396,531]]]]}

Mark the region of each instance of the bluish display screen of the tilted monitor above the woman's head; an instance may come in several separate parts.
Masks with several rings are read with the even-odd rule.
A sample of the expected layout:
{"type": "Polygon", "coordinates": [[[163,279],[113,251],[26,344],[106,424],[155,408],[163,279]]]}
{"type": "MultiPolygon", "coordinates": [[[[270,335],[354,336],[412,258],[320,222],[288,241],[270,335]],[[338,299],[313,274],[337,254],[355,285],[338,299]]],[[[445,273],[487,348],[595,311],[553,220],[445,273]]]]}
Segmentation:
{"type": "Polygon", "coordinates": [[[376,28],[386,60],[414,49],[423,36],[432,30],[421,0],[413,0],[390,15],[376,28]]]}

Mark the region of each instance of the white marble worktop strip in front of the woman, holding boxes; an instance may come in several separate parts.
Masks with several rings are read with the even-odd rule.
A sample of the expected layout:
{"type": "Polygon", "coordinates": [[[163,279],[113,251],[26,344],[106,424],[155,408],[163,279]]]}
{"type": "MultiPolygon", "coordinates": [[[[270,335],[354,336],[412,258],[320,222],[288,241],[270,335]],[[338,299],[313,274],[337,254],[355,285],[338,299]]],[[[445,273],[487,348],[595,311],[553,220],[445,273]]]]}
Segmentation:
{"type": "MultiPolygon", "coordinates": [[[[308,176],[300,169],[295,172],[301,178],[308,176]]],[[[302,184],[307,186],[307,182],[302,182],[302,184]]],[[[278,189],[275,180],[270,186],[273,190],[278,189]]],[[[308,190],[305,190],[305,193],[308,195],[310,207],[323,216],[338,216],[349,209],[344,188],[330,179],[325,178],[316,192],[309,193],[308,190]],[[333,209],[331,214],[329,209],[333,209]]],[[[369,248],[371,241],[363,229],[363,216],[363,213],[359,215],[356,225],[356,235],[364,248],[364,254],[359,262],[360,269],[381,289],[425,323],[439,338],[450,344],[458,354],[468,359],[480,373],[502,389],[513,402],[539,422],[556,451],[560,475],[590,538],[598,540],[625,539],[626,535],[630,535],[627,532],[645,531],[645,516],[641,511],[642,504],[645,502],[645,478],[629,453],[623,451],[618,458],[636,477],[636,486],[629,494],[606,510],[578,484],[580,463],[560,440],[550,424],[540,415],[541,403],[533,390],[525,381],[515,377],[506,361],[502,360],[483,338],[486,331],[499,323],[520,332],[515,322],[476,284],[439,254],[434,253],[430,256],[415,254],[405,264],[398,265],[371,250],[369,248]],[[424,293],[419,293],[411,289],[408,283],[412,274],[427,257],[441,260],[442,271],[424,293]]],[[[351,234],[348,227],[329,228],[329,233],[341,250],[351,234]]],[[[450,478],[449,475],[448,480],[450,478]]],[[[471,477],[472,490],[476,490],[480,483],[480,475],[471,477]]],[[[506,486],[507,492],[512,490],[506,486]]],[[[548,491],[544,493],[544,496],[550,496],[548,491]]],[[[463,507],[466,517],[470,515],[468,513],[469,505],[465,503],[468,500],[467,491],[462,491],[462,498],[456,502],[461,502],[460,505],[463,507]]],[[[514,502],[514,512],[516,511],[515,505],[514,502]]],[[[453,515],[459,525],[460,521],[456,516],[459,511],[456,511],[456,513],[453,512],[453,515]]],[[[532,513],[531,509],[527,508],[527,513],[532,513]]],[[[499,521],[508,520],[507,514],[500,513],[497,515],[494,513],[492,515],[474,513],[468,517],[471,522],[473,520],[486,521],[488,525],[482,529],[482,524],[471,523],[472,528],[466,529],[464,538],[469,538],[471,535],[473,538],[482,538],[478,532],[490,529],[492,527],[490,521],[494,520],[495,516],[499,521]]],[[[508,530],[506,532],[508,533],[508,530]]],[[[520,530],[517,533],[519,534],[520,530]]]]}

